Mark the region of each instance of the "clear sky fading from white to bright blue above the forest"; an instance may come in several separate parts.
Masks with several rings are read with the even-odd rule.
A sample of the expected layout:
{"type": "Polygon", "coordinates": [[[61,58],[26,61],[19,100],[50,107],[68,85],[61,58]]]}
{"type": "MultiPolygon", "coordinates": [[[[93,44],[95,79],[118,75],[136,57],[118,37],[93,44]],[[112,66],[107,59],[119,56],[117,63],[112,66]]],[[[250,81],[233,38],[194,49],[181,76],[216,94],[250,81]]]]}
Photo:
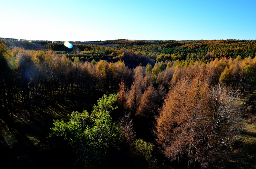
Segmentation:
{"type": "Polygon", "coordinates": [[[52,41],[256,39],[256,1],[0,0],[0,37],[52,41]]]}

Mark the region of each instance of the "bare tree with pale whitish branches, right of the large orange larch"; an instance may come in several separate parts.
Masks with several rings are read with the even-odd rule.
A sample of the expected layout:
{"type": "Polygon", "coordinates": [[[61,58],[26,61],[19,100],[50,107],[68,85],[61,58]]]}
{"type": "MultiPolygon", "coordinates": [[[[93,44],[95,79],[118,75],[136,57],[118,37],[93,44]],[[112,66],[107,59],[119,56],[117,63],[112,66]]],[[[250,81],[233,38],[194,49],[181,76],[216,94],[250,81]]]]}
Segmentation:
{"type": "Polygon", "coordinates": [[[229,146],[234,135],[239,134],[240,123],[235,100],[240,97],[240,93],[228,90],[226,84],[219,83],[210,92],[210,108],[212,117],[209,119],[208,130],[205,133],[207,142],[207,155],[204,157],[205,165],[212,161],[212,155],[222,146],[229,146]]]}

